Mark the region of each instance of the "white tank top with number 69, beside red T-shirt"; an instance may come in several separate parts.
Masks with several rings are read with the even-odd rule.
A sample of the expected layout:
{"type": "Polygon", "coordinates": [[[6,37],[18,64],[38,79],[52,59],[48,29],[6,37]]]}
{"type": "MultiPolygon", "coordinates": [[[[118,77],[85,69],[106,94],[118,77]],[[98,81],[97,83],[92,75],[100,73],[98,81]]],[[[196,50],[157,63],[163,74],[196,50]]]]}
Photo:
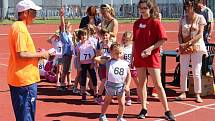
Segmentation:
{"type": "Polygon", "coordinates": [[[123,58],[129,64],[131,64],[131,55],[132,55],[132,45],[128,45],[127,47],[123,48],[123,58]]]}

